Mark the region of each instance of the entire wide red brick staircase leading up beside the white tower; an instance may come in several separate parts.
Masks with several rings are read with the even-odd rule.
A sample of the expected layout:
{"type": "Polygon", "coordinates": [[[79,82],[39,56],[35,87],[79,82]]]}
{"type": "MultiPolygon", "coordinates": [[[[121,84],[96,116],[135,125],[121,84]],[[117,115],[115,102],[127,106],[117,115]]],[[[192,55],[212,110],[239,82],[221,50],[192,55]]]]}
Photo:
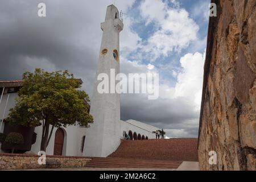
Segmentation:
{"type": "Polygon", "coordinates": [[[86,167],[176,169],[198,161],[196,138],[123,140],[107,158],[92,158],[86,167]]]}

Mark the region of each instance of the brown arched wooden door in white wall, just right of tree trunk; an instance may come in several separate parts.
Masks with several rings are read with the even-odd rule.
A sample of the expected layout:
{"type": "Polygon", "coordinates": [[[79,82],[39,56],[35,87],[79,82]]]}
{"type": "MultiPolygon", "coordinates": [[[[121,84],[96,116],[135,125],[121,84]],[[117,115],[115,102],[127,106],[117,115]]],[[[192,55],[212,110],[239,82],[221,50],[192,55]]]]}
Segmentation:
{"type": "Polygon", "coordinates": [[[64,131],[59,128],[55,132],[53,155],[62,155],[64,143],[64,131]]]}

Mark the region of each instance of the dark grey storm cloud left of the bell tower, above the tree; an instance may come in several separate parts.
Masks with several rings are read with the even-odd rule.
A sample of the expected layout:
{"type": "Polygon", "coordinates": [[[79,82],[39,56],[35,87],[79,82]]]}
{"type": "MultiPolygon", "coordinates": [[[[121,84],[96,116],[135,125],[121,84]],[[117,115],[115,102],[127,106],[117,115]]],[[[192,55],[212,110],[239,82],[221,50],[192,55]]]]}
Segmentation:
{"type": "Polygon", "coordinates": [[[96,16],[96,23],[82,1],[44,1],[44,18],[37,14],[39,2],[1,1],[0,80],[20,79],[24,71],[49,69],[51,64],[53,69],[68,69],[82,77],[91,92],[101,38],[97,18],[105,13],[96,16]]]}

